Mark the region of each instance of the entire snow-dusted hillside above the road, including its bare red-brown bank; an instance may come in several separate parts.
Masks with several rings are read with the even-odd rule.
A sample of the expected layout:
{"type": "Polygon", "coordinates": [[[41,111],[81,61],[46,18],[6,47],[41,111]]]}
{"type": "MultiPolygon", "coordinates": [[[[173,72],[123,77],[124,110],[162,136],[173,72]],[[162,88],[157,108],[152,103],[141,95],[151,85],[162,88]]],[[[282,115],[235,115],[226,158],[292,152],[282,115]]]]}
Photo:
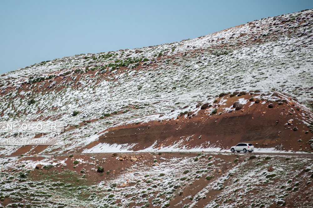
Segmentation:
{"type": "Polygon", "coordinates": [[[67,131],[59,135],[65,143],[61,147],[2,146],[0,153],[148,151],[160,146],[224,151],[247,140],[259,148],[308,152],[313,136],[307,108],[313,97],[312,23],[313,12],[306,10],[192,40],[75,55],[3,74],[1,121],[61,120],[67,131]],[[241,100],[244,108],[228,114],[240,99],[229,96],[236,91],[247,93],[241,100]],[[223,92],[228,95],[217,98],[223,92]],[[277,96],[271,98],[274,92],[277,96]],[[250,106],[252,96],[264,101],[250,106]],[[215,99],[217,114],[209,115],[213,107],[205,111],[197,105],[215,99]],[[288,102],[268,109],[268,102],[277,99],[288,102]],[[221,109],[222,104],[229,109],[221,109]],[[79,114],[73,116],[74,111],[79,114]],[[180,115],[186,111],[195,114],[192,119],[180,115]],[[287,133],[290,119],[298,131],[287,133]],[[188,126],[194,122],[201,125],[188,126]],[[126,123],[131,125],[125,128],[126,123]],[[135,130],[138,123],[146,130],[151,126],[142,139],[135,130]],[[108,131],[114,134],[108,136],[108,131]],[[167,133],[156,134],[160,131],[167,133]],[[191,136],[195,140],[189,143],[191,136]]]}

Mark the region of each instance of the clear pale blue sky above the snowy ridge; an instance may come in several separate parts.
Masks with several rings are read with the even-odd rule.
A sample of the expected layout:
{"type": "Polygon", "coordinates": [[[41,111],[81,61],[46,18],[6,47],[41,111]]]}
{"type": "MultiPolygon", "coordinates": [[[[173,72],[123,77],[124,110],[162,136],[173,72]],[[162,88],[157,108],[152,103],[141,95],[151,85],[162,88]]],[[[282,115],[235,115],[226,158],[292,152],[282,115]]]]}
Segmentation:
{"type": "Polygon", "coordinates": [[[0,74],[44,60],[192,39],[313,1],[0,1],[0,74]]]}

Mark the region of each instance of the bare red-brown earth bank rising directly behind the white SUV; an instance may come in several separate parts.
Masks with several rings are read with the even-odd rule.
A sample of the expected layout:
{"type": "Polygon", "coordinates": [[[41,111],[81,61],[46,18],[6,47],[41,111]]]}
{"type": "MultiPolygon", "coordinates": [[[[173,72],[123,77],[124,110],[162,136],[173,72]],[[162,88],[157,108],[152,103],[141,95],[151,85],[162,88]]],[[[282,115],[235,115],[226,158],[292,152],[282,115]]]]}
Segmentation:
{"type": "MultiPolygon", "coordinates": [[[[226,106],[230,106],[239,98],[225,96],[228,97],[226,106]]],[[[249,99],[251,97],[246,94],[240,98],[249,99]]],[[[217,99],[216,107],[200,110],[191,119],[183,115],[171,120],[132,123],[109,128],[106,130],[108,133],[100,136],[92,146],[98,143],[138,143],[133,148],[134,151],[138,151],[150,147],[157,141],[155,147],[160,147],[162,151],[162,147],[172,146],[182,137],[192,136],[188,141],[184,140],[186,149],[198,147],[209,141],[210,145],[213,144],[222,149],[229,149],[240,142],[249,142],[253,143],[256,148],[272,148],[283,145],[281,149],[286,151],[299,151],[305,148],[310,150],[308,140],[313,135],[307,124],[302,121],[303,114],[308,117],[310,114],[301,109],[297,110],[299,106],[295,102],[288,100],[288,103],[282,105],[274,102],[274,108],[268,108],[269,102],[261,104],[263,102],[261,101],[249,106],[251,104],[249,101],[241,110],[232,108],[232,112],[218,115],[219,109],[225,107],[224,105],[218,106],[219,100],[222,98],[217,99]],[[213,108],[217,108],[217,114],[210,115],[213,108]],[[290,109],[294,110],[292,115],[290,115],[290,109]],[[292,123],[287,125],[290,119],[293,119],[292,123]],[[298,130],[294,131],[294,127],[297,127],[298,130]],[[308,133],[305,133],[307,131],[308,133]],[[201,138],[199,138],[200,136],[201,138]],[[298,143],[299,139],[302,142],[298,143]]],[[[254,101],[252,102],[254,103],[254,101]]],[[[312,118],[310,119],[312,121],[312,118]]]]}

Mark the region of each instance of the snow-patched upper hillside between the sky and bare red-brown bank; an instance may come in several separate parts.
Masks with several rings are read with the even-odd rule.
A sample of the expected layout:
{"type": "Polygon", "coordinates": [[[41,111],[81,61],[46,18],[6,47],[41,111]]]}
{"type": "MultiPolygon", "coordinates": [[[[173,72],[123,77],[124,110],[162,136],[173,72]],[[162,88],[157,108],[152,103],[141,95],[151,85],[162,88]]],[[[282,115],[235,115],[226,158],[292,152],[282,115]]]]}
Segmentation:
{"type": "Polygon", "coordinates": [[[85,143],[95,132],[134,119],[176,118],[183,107],[222,92],[276,90],[309,106],[312,25],[313,12],[306,10],[192,40],[43,61],[1,75],[0,120],[80,127],[61,135],[68,145],[56,151],[62,152],[67,141],[85,143]],[[99,120],[81,126],[92,119],[99,120]]]}

